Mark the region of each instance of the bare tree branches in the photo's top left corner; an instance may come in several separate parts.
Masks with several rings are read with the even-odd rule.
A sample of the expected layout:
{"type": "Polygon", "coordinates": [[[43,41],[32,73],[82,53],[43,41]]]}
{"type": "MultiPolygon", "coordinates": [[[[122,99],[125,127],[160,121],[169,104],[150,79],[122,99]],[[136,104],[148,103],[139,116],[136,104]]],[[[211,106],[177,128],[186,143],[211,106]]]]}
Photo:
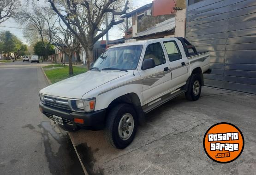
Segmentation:
{"type": "Polygon", "coordinates": [[[0,0],[0,23],[13,17],[19,5],[19,0],[0,0]]]}

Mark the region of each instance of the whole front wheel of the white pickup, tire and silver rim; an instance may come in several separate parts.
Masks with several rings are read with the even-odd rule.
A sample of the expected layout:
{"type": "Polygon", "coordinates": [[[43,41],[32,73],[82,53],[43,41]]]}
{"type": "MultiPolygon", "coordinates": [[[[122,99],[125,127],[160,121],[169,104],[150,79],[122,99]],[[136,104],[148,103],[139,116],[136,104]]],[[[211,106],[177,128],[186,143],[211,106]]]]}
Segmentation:
{"type": "Polygon", "coordinates": [[[129,104],[118,104],[107,116],[105,137],[107,142],[119,149],[127,147],[137,130],[137,115],[129,104]]]}

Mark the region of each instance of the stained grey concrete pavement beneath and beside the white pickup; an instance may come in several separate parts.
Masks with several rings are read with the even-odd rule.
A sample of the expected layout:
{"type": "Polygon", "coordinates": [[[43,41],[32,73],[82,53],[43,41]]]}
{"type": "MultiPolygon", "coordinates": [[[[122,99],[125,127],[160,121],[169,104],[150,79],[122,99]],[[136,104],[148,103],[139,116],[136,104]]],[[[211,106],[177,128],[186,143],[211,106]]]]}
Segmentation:
{"type": "Polygon", "coordinates": [[[201,98],[179,96],[147,114],[131,145],[124,150],[107,145],[103,131],[70,133],[89,175],[255,174],[256,96],[203,87],[201,98]],[[242,155],[219,164],[205,154],[202,141],[219,122],[238,126],[245,140],[242,155]]]}

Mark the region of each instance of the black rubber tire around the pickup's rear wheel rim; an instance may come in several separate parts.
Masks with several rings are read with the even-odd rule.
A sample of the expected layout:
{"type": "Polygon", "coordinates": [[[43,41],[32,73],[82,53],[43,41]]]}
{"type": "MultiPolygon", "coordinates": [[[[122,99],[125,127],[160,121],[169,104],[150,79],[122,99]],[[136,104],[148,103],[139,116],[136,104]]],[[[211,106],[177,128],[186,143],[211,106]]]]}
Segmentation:
{"type": "Polygon", "coordinates": [[[191,79],[190,79],[190,82],[189,82],[189,85],[188,85],[188,91],[185,92],[185,96],[188,100],[190,101],[196,101],[199,99],[200,95],[201,95],[201,90],[202,90],[202,79],[200,77],[200,75],[198,74],[192,74],[191,75],[191,79]],[[193,90],[193,86],[194,86],[194,83],[198,81],[199,82],[199,90],[197,94],[194,93],[194,90],[193,90]]]}

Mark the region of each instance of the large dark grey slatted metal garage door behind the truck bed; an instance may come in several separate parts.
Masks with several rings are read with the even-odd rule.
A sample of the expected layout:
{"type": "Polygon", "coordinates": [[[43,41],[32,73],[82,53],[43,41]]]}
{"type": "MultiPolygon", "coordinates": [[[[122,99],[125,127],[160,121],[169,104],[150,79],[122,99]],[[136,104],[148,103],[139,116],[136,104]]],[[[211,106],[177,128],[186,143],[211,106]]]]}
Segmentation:
{"type": "Polygon", "coordinates": [[[256,94],[256,0],[202,0],[186,16],[186,39],[211,55],[205,85],[256,94]]]}

